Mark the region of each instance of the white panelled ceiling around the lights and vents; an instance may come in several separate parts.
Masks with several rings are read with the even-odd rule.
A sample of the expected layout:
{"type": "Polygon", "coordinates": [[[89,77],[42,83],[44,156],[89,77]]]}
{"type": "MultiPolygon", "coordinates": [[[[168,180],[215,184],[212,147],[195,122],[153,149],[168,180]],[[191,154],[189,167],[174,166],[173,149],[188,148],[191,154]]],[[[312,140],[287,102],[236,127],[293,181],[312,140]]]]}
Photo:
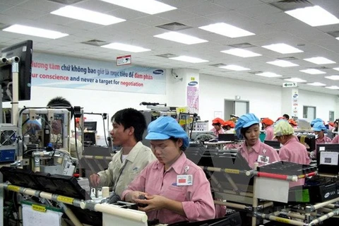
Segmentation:
{"type": "MultiPolygon", "coordinates": [[[[70,2],[71,0],[64,1],[70,2]]],[[[146,13],[122,8],[99,0],[83,0],[73,4],[73,6],[126,19],[126,21],[122,23],[104,26],[52,15],[50,14],[51,11],[61,8],[64,4],[49,0],[0,0],[0,28],[5,28],[13,24],[20,24],[57,30],[69,34],[69,36],[61,37],[57,40],[50,40],[42,37],[20,35],[0,30],[0,46],[6,47],[30,39],[33,40],[33,49],[36,52],[49,52],[73,57],[115,61],[116,57],[129,53],[96,47],[81,42],[86,42],[88,40],[123,42],[125,44],[133,44],[152,49],[150,52],[132,54],[133,64],[162,67],[166,69],[198,69],[200,73],[206,73],[213,76],[279,85],[280,87],[284,82],[282,80],[283,78],[291,77],[302,78],[309,83],[321,82],[326,85],[339,86],[339,81],[331,81],[324,78],[324,76],[339,74],[339,71],[333,70],[333,68],[339,67],[339,40],[336,40],[335,37],[328,35],[327,33],[339,31],[339,24],[313,28],[269,4],[278,2],[278,0],[159,1],[175,6],[177,9],[150,16],[146,13]],[[191,27],[179,32],[200,37],[204,40],[208,40],[208,42],[186,45],[153,37],[153,35],[159,35],[167,31],[155,26],[172,22],[182,23],[191,27]],[[254,32],[256,35],[229,38],[198,29],[200,26],[218,22],[235,25],[239,28],[254,32]],[[230,49],[230,44],[239,44],[243,42],[253,44],[255,47],[250,47],[248,49],[262,54],[263,56],[242,58],[220,52],[225,49],[230,49]],[[290,44],[302,49],[304,52],[297,54],[279,54],[261,47],[266,44],[278,42],[290,44]],[[182,61],[174,61],[164,57],[157,57],[159,54],[199,57],[208,60],[208,62],[191,64],[182,61]],[[295,57],[297,59],[292,62],[299,64],[299,66],[282,68],[266,64],[267,61],[273,61],[281,57],[295,57]],[[337,63],[316,65],[303,60],[310,57],[326,57],[337,63]],[[229,71],[227,69],[211,66],[213,64],[237,64],[249,68],[251,71],[229,71]],[[319,66],[326,66],[326,68],[328,68],[323,69],[326,74],[309,75],[307,73],[299,72],[299,70],[302,69],[319,66]],[[254,71],[270,71],[278,73],[283,77],[264,78],[255,76],[251,73],[254,71]]],[[[309,2],[325,8],[339,18],[338,0],[309,0],[309,2]]],[[[300,89],[304,90],[339,95],[339,90],[329,90],[327,88],[319,88],[302,83],[299,83],[298,85],[300,89]]]]}

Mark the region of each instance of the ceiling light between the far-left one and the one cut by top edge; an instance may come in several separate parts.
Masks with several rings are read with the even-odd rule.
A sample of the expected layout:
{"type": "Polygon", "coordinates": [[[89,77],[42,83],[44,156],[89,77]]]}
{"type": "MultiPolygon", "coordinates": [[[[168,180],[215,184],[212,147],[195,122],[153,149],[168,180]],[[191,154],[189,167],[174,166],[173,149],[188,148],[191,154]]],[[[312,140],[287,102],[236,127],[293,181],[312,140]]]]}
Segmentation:
{"type": "Polygon", "coordinates": [[[85,8],[78,8],[74,6],[65,6],[51,12],[54,15],[65,16],[76,20],[83,20],[90,23],[97,23],[101,25],[111,25],[125,21],[124,19],[110,16],[104,13],[90,11],[85,8]]]}

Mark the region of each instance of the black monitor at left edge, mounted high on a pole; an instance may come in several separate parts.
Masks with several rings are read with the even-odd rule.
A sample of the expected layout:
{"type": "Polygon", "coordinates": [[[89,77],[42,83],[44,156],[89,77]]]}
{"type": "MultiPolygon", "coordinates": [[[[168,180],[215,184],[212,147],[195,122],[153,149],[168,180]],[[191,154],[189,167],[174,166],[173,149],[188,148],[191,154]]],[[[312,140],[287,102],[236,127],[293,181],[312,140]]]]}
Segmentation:
{"type": "MultiPolygon", "coordinates": [[[[11,57],[19,57],[19,100],[30,100],[30,83],[32,73],[32,40],[13,44],[10,47],[1,49],[1,57],[10,59],[11,57]]],[[[6,90],[8,89],[12,93],[12,85],[8,83],[12,82],[12,65],[8,64],[0,67],[0,82],[2,88],[2,101],[11,101],[8,97],[6,90]]]]}

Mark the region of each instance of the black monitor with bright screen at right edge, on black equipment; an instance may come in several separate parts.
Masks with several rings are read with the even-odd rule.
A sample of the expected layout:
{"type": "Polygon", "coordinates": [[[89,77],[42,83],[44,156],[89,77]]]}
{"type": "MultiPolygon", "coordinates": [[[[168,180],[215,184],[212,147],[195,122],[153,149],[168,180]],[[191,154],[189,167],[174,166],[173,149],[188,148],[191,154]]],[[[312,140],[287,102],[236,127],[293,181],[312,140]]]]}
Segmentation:
{"type": "Polygon", "coordinates": [[[339,144],[323,143],[316,145],[316,165],[323,174],[339,173],[339,144]]]}

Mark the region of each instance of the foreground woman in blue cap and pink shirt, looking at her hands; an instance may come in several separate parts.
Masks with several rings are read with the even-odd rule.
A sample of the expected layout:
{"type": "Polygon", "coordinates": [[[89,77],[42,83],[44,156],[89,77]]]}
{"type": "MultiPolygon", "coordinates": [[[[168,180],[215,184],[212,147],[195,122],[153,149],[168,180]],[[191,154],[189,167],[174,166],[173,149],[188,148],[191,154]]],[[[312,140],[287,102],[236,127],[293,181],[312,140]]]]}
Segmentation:
{"type": "Polygon", "coordinates": [[[162,224],[215,218],[210,183],[203,169],[184,153],[189,137],[182,126],[172,117],[159,117],[148,125],[145,138],[157,160],[129,184],[122,198],[148,205],[139,210],[162,224]],[[140,195],[145,199],[139,199],[140,195]]]}

